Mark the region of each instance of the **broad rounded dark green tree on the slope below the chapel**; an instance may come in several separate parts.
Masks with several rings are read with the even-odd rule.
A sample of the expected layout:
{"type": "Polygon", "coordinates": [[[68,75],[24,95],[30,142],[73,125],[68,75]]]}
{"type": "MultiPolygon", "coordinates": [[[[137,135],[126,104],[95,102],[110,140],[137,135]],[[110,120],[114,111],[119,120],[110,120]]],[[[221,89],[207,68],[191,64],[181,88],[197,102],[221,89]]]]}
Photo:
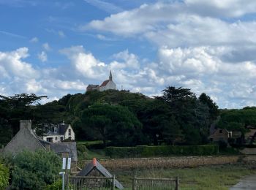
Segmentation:
{"type": "Polygon", "coordinates": [[[86,129],[100,135],[104,144],[138,145],[141,138],[141,123],[127,107],[111,104],[94,104],[81,114],[86,129]]]}

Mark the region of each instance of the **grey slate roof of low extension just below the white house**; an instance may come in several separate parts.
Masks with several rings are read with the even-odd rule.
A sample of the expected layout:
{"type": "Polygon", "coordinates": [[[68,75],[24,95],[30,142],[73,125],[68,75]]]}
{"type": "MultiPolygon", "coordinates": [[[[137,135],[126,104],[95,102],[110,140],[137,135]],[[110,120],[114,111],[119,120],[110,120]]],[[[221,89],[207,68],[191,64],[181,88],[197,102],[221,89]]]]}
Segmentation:
{"type": "Polygon", "coordinates": [[[69,153],[72,161],[78,161],[76,142],[54,142],[50,143],[50,150],[55,153],[69,153]]]}

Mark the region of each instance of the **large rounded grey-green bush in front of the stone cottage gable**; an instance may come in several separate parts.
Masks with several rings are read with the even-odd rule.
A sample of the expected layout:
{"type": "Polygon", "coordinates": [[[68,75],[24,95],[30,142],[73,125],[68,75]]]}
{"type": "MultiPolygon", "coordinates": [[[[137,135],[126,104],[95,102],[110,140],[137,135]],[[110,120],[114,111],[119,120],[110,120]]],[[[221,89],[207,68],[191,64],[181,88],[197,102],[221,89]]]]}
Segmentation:
{"type": "Polygon", "coordinates": [[[23,151],[13,159],[12,188],[43,189],[59,176],[61,161],[53,152],[23,151]]]}

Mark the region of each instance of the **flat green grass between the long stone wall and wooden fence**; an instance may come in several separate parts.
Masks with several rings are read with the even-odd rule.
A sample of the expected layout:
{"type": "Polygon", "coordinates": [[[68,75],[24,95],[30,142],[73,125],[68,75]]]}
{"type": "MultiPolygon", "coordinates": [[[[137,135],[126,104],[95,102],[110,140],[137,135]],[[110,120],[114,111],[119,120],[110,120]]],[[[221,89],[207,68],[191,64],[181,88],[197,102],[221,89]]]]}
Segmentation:
{"type": "Polygon", "coordinates": [[[179,176],[181,189],[229,189],[246,175],[256,174],[250,167],[218,165],[208,167],[169,169],[169,170],[130,170],[113,172],[126,189],[132,187],[132,176],[143,178],[174,178],[179,176]]]}

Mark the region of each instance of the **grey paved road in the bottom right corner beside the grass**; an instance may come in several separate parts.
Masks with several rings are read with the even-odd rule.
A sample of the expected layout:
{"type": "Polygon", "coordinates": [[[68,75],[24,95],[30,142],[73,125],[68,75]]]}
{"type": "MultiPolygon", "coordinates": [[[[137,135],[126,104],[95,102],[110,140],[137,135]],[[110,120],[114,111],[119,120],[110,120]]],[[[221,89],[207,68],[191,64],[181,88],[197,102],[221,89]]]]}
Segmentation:
{"type": "Polygon", "coordinates": [[[256,175],[250,175],[240,180],[235,186],[231,187],[230,190],[255,190],[256,189],[256,175]]]}

